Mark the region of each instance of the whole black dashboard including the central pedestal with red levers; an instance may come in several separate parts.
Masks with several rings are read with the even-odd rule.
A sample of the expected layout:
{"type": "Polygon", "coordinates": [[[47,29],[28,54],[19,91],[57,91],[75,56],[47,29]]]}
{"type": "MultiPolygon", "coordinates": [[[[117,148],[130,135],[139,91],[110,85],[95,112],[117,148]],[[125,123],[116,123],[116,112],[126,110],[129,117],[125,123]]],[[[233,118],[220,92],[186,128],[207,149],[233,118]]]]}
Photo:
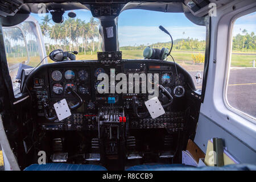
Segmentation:
{"type": "MultiPolygon", "coordinates": [[[[49,138],[63,136],[66,141],[73,138],[72,142],[69,141],[69,146],[80,138],[75,137],[77,134],[87,136],[86,144],[82,140],[84,137],[80,141],[87,146],[86,161],[94,160],[94,155],[97,156],[95,160],[101,161],[137,159],[138,156],[144,161],[151,161],[155,159],[152,155],[160,154],[160,150],[174,150],[174,146],[177,146],[180,140],[180,133],[188,137],[195,131],[198,108],[191,100],[195,85],[189,73],[178,64],[175,68],[172,62],[63,61],[41,65],[31,72],[26,85],[31,92],[32,113],[35,115],[39,131],[48,133],[46,135],[49,138]],[[108,86],[97,79],[101,73],[110,76],[109,93],[98,92],[98,88],[108,86]],[[168,92],[172,97],[170,102],[168,94],[159,89],[158,99],[165,113],[156,118],[148,114],[144,103],[152,93],[144,92],[146,89],[142,78],[139,80],[139,92],[136,92],[136,89],[130,92],[129,88],[136,88],[136,85],[129,83],[127,92],[111,92],[111,85],[117,85],[119,82],[117,79],[111,80],[112,74],[116,76],[118,73],[123,73],[127,78],[130,75],[144,73],[149,83],[155,83],[155,79],[158,78],[157,86],[162,86],[164,92],[168,92]],[[150,73],[158,74],[158,77],[152,77],[150,73]],[[59,121],[53,104],[64,98],[70,108],[76,108],[71,109],[69,117],[59,121]]],[[[163,155],[163,158],[165,156],[170,155],[163,155]]]]}

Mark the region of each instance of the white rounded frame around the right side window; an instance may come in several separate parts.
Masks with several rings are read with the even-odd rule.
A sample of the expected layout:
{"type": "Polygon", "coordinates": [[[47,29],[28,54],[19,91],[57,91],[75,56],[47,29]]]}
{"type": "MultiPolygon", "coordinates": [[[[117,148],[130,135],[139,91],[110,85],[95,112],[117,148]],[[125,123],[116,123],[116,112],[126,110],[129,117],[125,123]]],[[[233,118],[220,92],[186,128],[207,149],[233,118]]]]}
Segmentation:
{"type": "MultiPolygon", "coordinates": [[[[233,47],[233,28],[234,24],[236,23],[236,20],[238,18],[241,18],[242,16],[249,15],[251,13],[255,13],[256,10],[255,8],[251,8],[249,10],[243,11],[242,13],[239,13],[235,16],[230,21],[229,24],[229,38],[228,38],[228,52],[227,52],[227,63],[226,63],[226,68],[225,68],[225,80],[224,80],[224,90],[223,90],[223,100],[224,100],[224,105],[226,108],[233,113],[240,115],[242,118],[247,119],[251,123],[256,124],[256,118],[253,116],[236,109],[232,105],[229,104],[227,93],[228,93],[228,83],[229,83],[229,76],[230,76],[230,67],[231,67],[231,61],[232,61],[232,47],[233,47]]],[[[256,69],[256,68],[255,68],[256,69]]]]}

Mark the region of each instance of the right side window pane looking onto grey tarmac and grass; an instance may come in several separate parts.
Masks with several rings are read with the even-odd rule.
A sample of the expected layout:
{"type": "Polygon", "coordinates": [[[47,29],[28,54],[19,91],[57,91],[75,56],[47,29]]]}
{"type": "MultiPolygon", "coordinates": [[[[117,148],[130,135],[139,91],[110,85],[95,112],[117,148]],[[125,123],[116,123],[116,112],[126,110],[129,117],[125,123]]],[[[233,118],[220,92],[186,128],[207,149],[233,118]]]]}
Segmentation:
{"type": "Polygon", "coordinates": [[[234,22],[232,56],[226,85],[228,105],[256,118],[256,12],[234,22]]]}

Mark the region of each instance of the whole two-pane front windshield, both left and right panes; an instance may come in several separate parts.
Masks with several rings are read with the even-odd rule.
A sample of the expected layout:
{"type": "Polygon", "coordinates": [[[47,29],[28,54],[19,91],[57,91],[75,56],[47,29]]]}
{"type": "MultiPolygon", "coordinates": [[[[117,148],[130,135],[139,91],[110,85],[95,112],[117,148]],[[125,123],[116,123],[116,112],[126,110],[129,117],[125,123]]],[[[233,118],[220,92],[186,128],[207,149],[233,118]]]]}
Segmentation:
{"type": "MultiPolygon", "coordinates": [[[[100,22],[93,18],[88,10],[75,10],[76,18],[64,14],[63,23],[54,23],[50,14],[33,14],[39,21],[46,44],[47,54],[54,49],[78,51],[77,60],[96,60],[97,52],[102,51],[102,39],[99,34],[100,22]]],[[[191,76],[201,74],[196,81],[201,89],[204,69],[206,28],[190,22],[183,13],[162,13],[148,10],[126,10],[118,17],[119,49],[123,59],[144,59],[146,47],[170,49],[170,36],[159,30],[165,27],[174,46],[171,55],[176,63],[189,71],[191,76]]],[[[52,60],[48,61],[51,63],[52,60]]],[[[167,61],[171,61],[167,57],[167,61]]]]}

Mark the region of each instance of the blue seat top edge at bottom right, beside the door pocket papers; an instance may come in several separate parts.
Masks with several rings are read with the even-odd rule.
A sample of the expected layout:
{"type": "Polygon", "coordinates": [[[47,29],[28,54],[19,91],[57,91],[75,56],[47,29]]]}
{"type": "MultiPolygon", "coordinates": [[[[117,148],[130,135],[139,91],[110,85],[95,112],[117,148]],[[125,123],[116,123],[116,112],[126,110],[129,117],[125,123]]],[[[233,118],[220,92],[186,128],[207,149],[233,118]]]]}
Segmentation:
{"type": "Polygon", "coordinates": [[[193,167],[184,164],[138,165],[126,171],[256,171],[255,164],[232,164],[223,167],[193,167]]]}

